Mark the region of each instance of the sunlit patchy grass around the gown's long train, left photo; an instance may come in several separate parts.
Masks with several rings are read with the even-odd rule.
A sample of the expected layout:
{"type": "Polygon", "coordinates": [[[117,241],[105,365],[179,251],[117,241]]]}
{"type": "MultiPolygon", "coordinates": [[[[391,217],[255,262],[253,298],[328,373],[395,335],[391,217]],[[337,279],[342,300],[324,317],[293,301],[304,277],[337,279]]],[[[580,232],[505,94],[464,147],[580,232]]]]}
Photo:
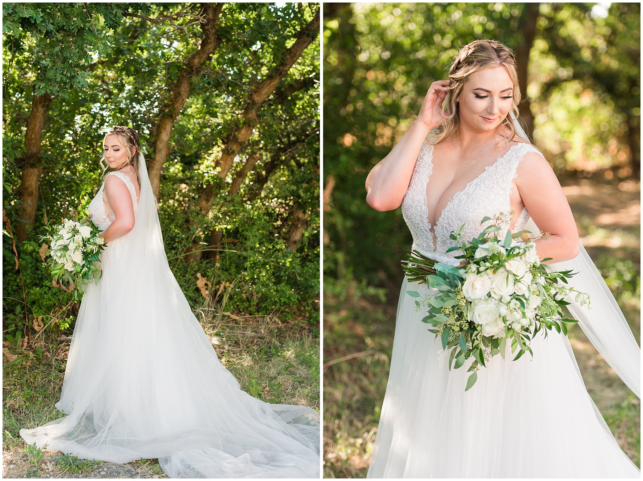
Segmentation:
{"type": "MultiPolygon", "coordinates": [[[[319,340],[275,316],[219,316],[212,306],[199,316],[222,364],[249,394],[278,404],[301,404],[319,412],[319,340]],[[216,316],[214,314],[217,314],[216,316]]],[[[60,417],[60,399],[69,344],[41,344],[33,350],[5,343],[11,360],[3,365],[3,477],[165,478],[158,460],[127,464],[82,460],[26,446],[21,428],[60,417]],[[39,351],[37,351],[39,349],[39,351]]]]}

